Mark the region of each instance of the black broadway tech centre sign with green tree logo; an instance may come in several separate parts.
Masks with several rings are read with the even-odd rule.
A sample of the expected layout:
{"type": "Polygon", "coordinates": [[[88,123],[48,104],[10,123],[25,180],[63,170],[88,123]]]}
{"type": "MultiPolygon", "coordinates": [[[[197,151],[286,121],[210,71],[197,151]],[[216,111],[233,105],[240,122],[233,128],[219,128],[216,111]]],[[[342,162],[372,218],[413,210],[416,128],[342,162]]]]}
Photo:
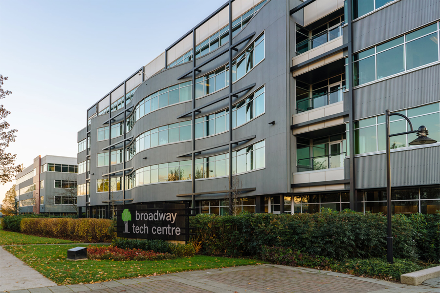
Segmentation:
{"type": "Polygon", "coordinates": [[[116,235],[122,238],[189,240],[189,205],[120,205],[116,235]]]}

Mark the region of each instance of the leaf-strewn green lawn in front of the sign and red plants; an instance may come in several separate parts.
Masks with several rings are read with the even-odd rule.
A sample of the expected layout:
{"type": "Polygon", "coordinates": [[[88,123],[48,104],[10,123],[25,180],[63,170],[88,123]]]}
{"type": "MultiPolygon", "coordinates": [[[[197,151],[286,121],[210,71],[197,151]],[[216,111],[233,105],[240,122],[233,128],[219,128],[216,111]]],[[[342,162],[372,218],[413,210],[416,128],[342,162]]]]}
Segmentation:
{"type": "MultiPolygon", "coordinates": [[[[216,269],[261,263],[255,259],[196,255],[161,261],[66,261],[67,250],[77,245],[42,245],[4,247],[26,264],[58,285],[94,283],[154,273],[216,269]]],[[[98,245],[99,246],[99,245],[98,245]]]]}

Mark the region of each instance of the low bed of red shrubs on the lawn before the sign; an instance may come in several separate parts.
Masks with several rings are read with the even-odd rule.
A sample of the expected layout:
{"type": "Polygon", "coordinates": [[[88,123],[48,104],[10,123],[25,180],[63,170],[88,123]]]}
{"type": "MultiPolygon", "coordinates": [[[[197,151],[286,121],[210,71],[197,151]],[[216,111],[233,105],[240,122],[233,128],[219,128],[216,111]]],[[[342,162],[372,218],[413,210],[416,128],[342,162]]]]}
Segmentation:
{"type": "Polygon", "coordinates": [[[111,259],[111,260],[164,260],[173,259],[175,256],[169,253],[158,253],[154,251],[143,251],[140,249],[122,249],[113,246],[87,248],[88,259],[111,259]]]}

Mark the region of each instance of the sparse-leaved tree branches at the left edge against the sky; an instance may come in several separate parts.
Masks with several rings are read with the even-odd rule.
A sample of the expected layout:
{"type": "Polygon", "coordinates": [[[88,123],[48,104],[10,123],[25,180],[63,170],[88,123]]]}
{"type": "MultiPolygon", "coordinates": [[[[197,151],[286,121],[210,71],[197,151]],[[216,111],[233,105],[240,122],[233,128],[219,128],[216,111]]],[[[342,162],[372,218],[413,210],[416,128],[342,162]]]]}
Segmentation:
{"type": "MultiPolygon", "coordinates": [[[[3,81],[7,80],[7,76],[3,77],[3,75],[0,74],[0,99],[4,99],[6,96],[12,94],[10,90],[4,90],[1,87],[3,81]]],[[[0,182],[2,184],[12,181],[12,176],[21,171],[19,166],[14,166],[16,154],[6,152],[9,143],[15,142],[15,132],[17,132],[17,129],[7,130],[9,129],[9,123],[4,121],[4,119],[10,113],[11,112],[6,110],[3,105],[0,105],[0,182]]]]}

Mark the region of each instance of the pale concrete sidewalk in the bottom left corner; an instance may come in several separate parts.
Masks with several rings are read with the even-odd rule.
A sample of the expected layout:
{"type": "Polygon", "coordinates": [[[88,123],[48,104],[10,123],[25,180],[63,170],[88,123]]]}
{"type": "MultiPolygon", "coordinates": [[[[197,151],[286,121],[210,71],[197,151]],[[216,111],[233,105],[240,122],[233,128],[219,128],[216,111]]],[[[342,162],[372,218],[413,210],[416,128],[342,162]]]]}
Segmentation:
{"type": "Polygon", "coordinates": [[[0,247],[0,292],[56,285],[0,247]]]}

